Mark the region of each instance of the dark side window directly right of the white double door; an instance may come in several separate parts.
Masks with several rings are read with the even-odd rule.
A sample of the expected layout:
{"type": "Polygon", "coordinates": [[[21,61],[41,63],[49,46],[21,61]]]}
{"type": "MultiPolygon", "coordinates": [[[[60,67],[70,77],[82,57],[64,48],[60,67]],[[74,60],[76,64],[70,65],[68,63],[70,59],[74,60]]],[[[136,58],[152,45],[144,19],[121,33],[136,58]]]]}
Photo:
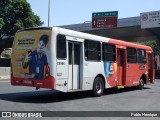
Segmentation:
{"type": "Polygon", "coordinates": [[[97,41],[85,40],[85,60],[101,60],[101,43],[97,41]]]}

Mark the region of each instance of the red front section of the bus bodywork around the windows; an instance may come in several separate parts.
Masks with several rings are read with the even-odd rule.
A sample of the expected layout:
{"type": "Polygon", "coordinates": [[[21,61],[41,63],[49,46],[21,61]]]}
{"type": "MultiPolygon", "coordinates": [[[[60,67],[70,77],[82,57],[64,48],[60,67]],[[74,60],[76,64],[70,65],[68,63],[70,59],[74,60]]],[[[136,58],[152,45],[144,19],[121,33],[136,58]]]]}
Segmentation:
{"type": "MultiPolygon", "coordinates": [[[[115,40],[115,39],[110,39],[109,40],[110,44],[115,44],[116,45],[116,54],[117,54],[117,59],[116,59],[116,64],[117,64],[117,73],[114,76],[117,76],[117,84],[115,84],[114,76],[111,76],[107,78],[107,81],[112,81],[109,82],[109,85],[112,87],[115,86],[138,86],[139,85],[139,80],[142,77],[142,75],[146,76],[146,83],[145,84],[153,84],[154,79],[155,79],[155,69],[154,69],[154,55],[152,48],[149,46],[144,46],[144,45],[139,45],[139,44],[134,44],[134,43],[129,43],[125,41],[120,41],[120,40],[115,40]],[[148,53],[152,53],[152,68],[151,68],[151,80],[148,80],[148,56],[147,57],[147,62],[144,64],[141,63],[127,63],[127,52],[126,48],[127,47],[132,47],[136,49],[144,49],[146,51],[146,55],[148,53]],[[118,53],[118,50],[121,49],[123,50],[123,55],[120,55],[118,53]],[[124,63],[123,66],[119,66],[120,61],[123,59],[124,63]],[[144,69],[142,69],[144,68],[144,69]]],[[[137,58],[138,59],[138,58],[137,58]]]]}

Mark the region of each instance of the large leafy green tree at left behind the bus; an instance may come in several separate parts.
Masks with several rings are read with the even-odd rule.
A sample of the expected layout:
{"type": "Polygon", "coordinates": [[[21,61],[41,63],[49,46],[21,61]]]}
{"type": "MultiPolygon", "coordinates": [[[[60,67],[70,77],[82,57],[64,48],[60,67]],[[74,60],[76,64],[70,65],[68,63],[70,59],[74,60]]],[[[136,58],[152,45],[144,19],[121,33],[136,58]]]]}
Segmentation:
{"type": "Polygon", "coordinates": [[[41,26],[27,0],[0,0],[0,39],[14,36],[22,28],[41,26]]]}

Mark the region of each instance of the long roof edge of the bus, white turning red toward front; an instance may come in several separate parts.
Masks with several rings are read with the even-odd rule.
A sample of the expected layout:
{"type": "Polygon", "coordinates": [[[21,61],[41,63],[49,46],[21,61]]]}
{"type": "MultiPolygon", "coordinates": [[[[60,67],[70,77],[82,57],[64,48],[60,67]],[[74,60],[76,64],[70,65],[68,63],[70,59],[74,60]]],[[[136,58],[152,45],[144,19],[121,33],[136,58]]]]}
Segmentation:
{"type": "Polygon", "coordinates": [[[140,44],[131,43],[131,42],[126,42],[126,41],[123,41],[123,40],[116,40],[116,39],[112,39],[112,38],[101,37],[101,36],[97,36],[97,35],[92,35],[92,34],[88,34],[88,33],[73,31],[73,30],[64,29],[64,28],[60,28],[60,27],[24,28],[24,29],[18,30],[18,32],[29,31],[29,30],[55,30],[55,31],[58,31],[58,33],[62,33],[62,34],[65,33],[65,35],[69,35],[69,36],[73,36],[73,37],[79,37],[79,38],[83,38],[83,39],[93,39],[93,40],[97,40],[97,41],[101,41],[101,42],[109,41],[109,43],[116,44],[116,45],[152,50],[152,48],[149,47],[149,46],[140,45],[140,44]]]}

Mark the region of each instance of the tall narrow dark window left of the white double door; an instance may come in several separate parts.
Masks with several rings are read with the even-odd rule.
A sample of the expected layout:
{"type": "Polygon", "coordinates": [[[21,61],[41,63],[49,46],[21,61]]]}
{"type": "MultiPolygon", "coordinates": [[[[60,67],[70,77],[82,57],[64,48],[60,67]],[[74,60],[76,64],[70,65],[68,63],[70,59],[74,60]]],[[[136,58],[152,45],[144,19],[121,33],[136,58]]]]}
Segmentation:
{"type": "Polygon", "coordinates": [[[66,54],[66,37],[64,35],[57,36],[57,58],[65,59],[66,54]]]}

